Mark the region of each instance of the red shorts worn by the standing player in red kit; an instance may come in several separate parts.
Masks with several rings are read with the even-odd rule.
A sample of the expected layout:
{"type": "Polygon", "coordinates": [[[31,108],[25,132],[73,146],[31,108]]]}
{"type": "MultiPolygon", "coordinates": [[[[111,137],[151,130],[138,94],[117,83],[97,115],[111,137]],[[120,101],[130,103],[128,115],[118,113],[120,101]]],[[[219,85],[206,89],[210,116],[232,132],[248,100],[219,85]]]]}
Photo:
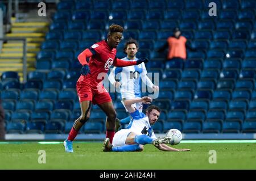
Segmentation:
{"type": "Polygon", "coordinates": [[[86,82],[76,83],[77,95],[79,96],[79,102],[85,100],[92,101],[93,104],[102,104],[107,102],[112,102],[109,92],[105,89],[103,85],[91,86],[86,82]]]}

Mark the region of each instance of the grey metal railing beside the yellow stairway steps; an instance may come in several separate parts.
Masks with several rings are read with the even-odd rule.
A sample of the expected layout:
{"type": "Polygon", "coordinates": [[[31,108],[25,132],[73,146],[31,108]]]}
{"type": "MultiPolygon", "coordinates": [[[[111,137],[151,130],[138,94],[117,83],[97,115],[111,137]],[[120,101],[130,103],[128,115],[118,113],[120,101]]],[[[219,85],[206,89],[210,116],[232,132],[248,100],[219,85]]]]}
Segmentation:
{"type": "Polygon", "coordinates": [[[27,82],[27,39],[26,38],[15,38],[15,37],[3,37],[0,38],[0,41],[8,41],[8,40],[14,40],[14,41],[22,41],[23,43],[23,58],[22,58],[22,63],[23,63],[23,83],[27,82]]]}

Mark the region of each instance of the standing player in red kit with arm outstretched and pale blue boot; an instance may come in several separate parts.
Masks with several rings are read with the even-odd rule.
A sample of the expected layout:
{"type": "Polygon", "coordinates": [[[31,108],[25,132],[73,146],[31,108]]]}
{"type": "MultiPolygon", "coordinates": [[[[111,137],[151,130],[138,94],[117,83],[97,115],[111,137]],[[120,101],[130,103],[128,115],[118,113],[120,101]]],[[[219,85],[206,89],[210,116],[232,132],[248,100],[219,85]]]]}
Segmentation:
{"type": "Polygon", "coordinates": [[[85,49],[77,57],[82,64],[81,76],[77,81],[76,89],[79,96],[81,116],[75,121],[67,140],[64,141],[65,151],[73,152],[73,140],[77,136],[82,125],[89,120],[90,111],[93,104],[98,106],[106,113],[106,137],[112,142],[115,133],[115,112],[109,92],[105,89],[102,81],[108,73],[110,66],[130,66],[148,62],[147,58],[140,58],[137,61],[123,61],[118,59],[117,45],[122,39],[123,27],[112,24],[109,27],[108,39],[102,40],[85,49]],[[89,64],[86,58],[89,57],[89,64]]]}

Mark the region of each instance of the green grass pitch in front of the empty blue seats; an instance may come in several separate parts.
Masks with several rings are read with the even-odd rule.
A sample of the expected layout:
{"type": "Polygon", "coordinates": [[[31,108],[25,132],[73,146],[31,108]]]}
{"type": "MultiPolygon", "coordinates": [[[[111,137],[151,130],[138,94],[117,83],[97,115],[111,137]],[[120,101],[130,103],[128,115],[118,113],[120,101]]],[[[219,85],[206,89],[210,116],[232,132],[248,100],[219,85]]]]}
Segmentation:
{"type": "Polygon", "coordinates": [[[74,153],[63,144],[16,142],[1,144],[0,169],[256,169],[255,143],[180,143],[187,152],[166,152],[153,145],[142,152],[109,153],[102,142],[74,142],[74,153]],[[46,163],[39,164],[39,150],[46,151],[46,163]],[[217,163],[209,163],[209,150],[216,150],[217,163]]]}

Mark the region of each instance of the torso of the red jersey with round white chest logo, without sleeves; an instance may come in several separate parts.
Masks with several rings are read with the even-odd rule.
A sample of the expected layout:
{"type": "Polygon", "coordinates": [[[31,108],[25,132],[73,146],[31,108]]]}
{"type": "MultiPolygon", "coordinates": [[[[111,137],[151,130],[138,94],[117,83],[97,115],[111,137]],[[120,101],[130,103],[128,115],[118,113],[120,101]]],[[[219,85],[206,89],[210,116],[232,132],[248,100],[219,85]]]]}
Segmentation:
{"type": "MultiPolygon", "coordinates": [[[[98,83],[104,79],[105,74],[112,66],[117,49],[111,49],[105,40],[93,44],[89,49],[93,53],[93,56],[89,59],[91,74],[86,75],[84,81],[90,85],[97,86],[98,83]]],[[[79,79],[81,79],[81,77],[84,76],[81,75],[79,79]]]]}

